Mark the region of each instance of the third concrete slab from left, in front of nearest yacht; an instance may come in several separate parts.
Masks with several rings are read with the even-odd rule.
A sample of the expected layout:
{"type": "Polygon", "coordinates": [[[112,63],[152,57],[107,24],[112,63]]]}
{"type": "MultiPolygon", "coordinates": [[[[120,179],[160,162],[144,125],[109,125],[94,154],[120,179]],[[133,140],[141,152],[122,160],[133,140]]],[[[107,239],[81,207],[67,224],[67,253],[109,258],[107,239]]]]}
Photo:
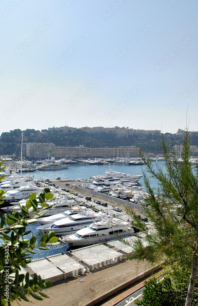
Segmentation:
{"type": "Polygon", "coordinates": [[[90,247],[73,251],[72,254],[81,260],[90,271],[95,268],[116,263],[123,259],[123,255],[103,244],[96,244],[90,247]]]}

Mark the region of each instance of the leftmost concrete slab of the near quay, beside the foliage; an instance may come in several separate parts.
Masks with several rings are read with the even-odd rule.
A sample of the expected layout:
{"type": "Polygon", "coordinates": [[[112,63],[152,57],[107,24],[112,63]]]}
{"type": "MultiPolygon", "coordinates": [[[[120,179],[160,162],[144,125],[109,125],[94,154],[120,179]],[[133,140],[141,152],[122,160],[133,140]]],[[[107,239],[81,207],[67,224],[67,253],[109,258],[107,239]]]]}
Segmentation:
{"type": "Polygon", "coordinates": [[[47,281],[57,282],[63,279],[63,272],[46,258],[35,259],[28,264],[28,267],[47,281]]]}

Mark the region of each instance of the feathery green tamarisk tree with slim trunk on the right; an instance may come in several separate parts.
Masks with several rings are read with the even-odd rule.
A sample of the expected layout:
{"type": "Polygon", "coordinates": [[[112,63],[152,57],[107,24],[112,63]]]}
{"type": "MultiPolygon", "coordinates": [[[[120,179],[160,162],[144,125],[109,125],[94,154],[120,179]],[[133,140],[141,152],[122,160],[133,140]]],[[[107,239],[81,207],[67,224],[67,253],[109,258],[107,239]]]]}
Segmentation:
{"type": "Polygon", "coordinates": [[[144,232],[146,247],[139,238],[134,244],[135,259],[160,263],[164,259],[177,261],[191,269],[185,306],[190,306],[198,271],[198,164],[191,162],[189,132],[183,141],[182,161],[179,162],[172,146],[169,149],[162,137],[165,160],[163,167],[143,157],[146,170],[143,171],[148,195],[143,213],[149,218],[153,229],[146,229],[132,207],[126,207],[132,225],[144,232]],[[149,174],[149,176],[148,176],[149,174]],[[149,177],[158,182],[151,187],[149,177]]]}

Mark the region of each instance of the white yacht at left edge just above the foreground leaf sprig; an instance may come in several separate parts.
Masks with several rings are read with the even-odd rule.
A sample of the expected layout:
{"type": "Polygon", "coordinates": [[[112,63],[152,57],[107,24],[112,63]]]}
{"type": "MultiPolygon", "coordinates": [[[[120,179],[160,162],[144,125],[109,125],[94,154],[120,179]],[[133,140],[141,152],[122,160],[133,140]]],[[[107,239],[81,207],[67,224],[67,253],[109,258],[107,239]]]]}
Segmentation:
{"type": "Polygon", "coordinates": [[[20,188],[17,188],[15,190],[10,190],[5,194],[5,198],[3,199],[4,203],[2,205],[10,202],[18,202],[21,199],[28,198],[28,196],[32,192],[41,193],[42,189],[38,188],[37,186],[27,185],[27,186],[21,186],[20,188]]]}

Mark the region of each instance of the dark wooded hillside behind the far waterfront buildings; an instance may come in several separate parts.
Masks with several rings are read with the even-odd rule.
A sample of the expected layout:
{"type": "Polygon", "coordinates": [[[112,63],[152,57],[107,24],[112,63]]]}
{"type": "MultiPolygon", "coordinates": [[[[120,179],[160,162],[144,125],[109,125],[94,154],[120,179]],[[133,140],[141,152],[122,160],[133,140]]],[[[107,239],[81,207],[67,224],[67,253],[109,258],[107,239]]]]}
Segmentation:
{"type": "MultiPolygon", "coordinates": [[[[0,137],[0,154],[13,154],[16,151],[20,154],[20,137],[22,131],[15,129],[10,132],[3,132],[0,137]]],[[[171,133],[163,134],[164,140],[169,145],[182,144],[182,135],[171,133]]],[[[198,146],[198,136],[191,137],[192,145],[198,146]]],[[[119,147],[119,146],[138,146],[142,151],[159,154],[162,149],[160,135],[136,134],[120,137],[107,132],[87,133],[83,131],[64,133],[62,130],[34,130],[26,129],[23,131],[23,142],[52,142],[56,146],[79,146],[86,147],[119,147]]]]}

